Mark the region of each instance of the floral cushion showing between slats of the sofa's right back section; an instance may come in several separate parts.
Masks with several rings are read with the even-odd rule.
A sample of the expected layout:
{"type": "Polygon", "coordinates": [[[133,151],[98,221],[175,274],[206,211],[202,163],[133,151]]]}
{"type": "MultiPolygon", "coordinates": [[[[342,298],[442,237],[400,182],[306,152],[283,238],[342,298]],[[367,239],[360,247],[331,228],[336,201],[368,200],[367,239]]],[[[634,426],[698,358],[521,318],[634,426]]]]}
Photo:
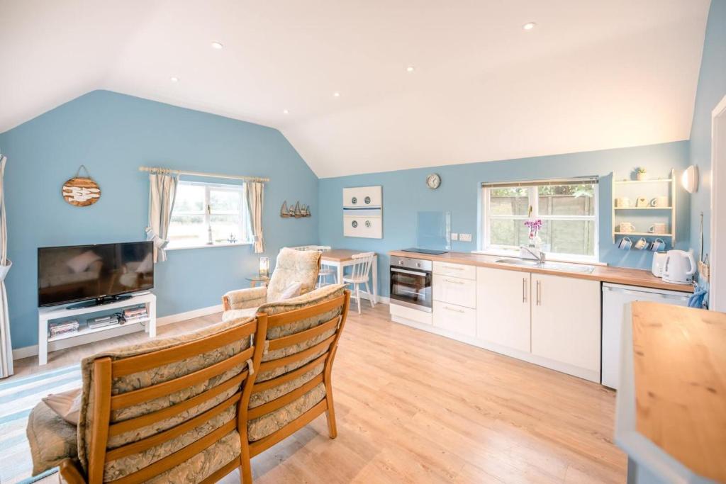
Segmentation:
{"type": "MultiPolygon", "coordinates": [[[[335,299],[343,295],[345,286],[343,284],[333,284],[330,286],[321,287],[307,294],[298,296],[297,298],[280,301],[279,303],[268,303],[258,308],[261,313],[267,313],[269,315],[285,313],[287,311],[295,311],[296,309],[306,308],[310,305],[324,303],[327,300],[335,299]]],[[[323,324],[336,316],[340,315],[340,307],[334,308],[326,313],[312,316],[299,321],[293,321],[290,324],[283,326],[268,328],[267,329],[267,340],[276,340],[280,337],[288,335],[294,335],[295,333],[305,331],[312,327],[316,327],[319,324],[323,324]]],[[[280,350],[267,351],[262,357],[262,361],[270,361],[277,358],[282,358],[293,353],[299,353],[306,348],[317,345],[321,341],[327,339],[335,333],[335,329],[330,329],[327,332],[323,332],[317,337],[313,337],[309,340],[304,340],[294,346],[288,346],[280,350]]],[[[314,360],[318,356],[325,353],[325,350],[320,350],[318,353],[314,353],[307,358],[303,358],[300,361],[296,361],[294,364],[288,364],[286,366],[278,367],[269,372],[261,372],[256,378],[256,382],[264,382],[271,380],[274,377],[279,377],[281,374],[292,372],[293,370],[303,366],[309,361],[314,360]]],[[[324,365],[321,363],[314,366],[309,372],[301,374],[299,377],[289,382],[277,385],[276,387],[263,390],[258,393],[253,393],[250,398],[250,409],[257,406],[261,406],[264,403],[280,398],[280,396],[290,393],[298,387],[301,387],[306,382],[309,382],[317,375],[321,374],[324,365]]],[[[299,398],[283,406],[281,409],[272,411],[269,414],[265,414],[256,419],[251,419],[248,422],[248,438],[250,441],[259,440],[272,434],[273,432],[280,430],[288,422],[292,422],[294,419],[300,417],[306,411],[315,406],[316,403],[322,401],[325,398],[325,386],[320,383],[315,387],[311,388],[308,392],[301,395],[299,398]]]]}

